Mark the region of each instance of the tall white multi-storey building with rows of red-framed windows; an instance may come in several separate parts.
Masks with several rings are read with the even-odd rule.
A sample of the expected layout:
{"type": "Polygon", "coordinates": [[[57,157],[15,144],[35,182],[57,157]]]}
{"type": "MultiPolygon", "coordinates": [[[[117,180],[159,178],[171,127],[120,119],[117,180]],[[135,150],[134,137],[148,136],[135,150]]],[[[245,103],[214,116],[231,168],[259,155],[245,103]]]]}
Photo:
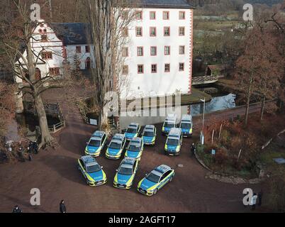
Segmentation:
{"type": "Polygon", "coordinates": [[[191,93],[193,7],[186,0],[144,0],[125,35],[127,96],[191,93]]]}

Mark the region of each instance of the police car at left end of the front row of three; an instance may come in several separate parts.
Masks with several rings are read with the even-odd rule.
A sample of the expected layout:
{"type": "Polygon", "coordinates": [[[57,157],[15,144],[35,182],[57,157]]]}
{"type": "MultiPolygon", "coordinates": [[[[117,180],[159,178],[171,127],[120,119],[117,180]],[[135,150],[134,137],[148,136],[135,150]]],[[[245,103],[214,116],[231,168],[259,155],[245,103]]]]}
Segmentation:
{"type": "Polygon", "coordinates": [[[107,177],[102,167],[96,162],[95,158],[86,155],[77,160],[78,170],[82,172],[86,183],[90,186],[99,186],[107,182],[107,177]]]}

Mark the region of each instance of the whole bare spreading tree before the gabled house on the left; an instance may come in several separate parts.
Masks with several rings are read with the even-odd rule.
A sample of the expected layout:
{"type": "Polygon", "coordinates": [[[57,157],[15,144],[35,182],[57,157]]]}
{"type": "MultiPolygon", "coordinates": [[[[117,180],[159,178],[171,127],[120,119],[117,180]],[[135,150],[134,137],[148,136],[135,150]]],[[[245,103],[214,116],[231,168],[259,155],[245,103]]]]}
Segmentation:
{"type": "MultiPolygon", "coordinates": [[[[50,146],[55,140],[48,129],[41,94],[47,89],[62,87],[62,84],[50,72],[42,74],[40,77],[37,75],[37,65],[39,63],[46,64],[43,52],[47,50],[52,52],[52,49],[41,45],[35,50],[33,46],[34,42],[39,41],[35,28],[38,28],[42,23],[30,19],[30,6],[33,3],[33,0],[13,0],[16,17],[11,22],[1,21],[0,46],[3,48],[6,59],[9,60],[13,74],[23,81],[19,91],[23,92],[24,95],[29,94],[33,97],[40,124],[40,146],[50,146]]],[[[61,56],[62,53],[52,52],[52,55],[61,56]]]]}

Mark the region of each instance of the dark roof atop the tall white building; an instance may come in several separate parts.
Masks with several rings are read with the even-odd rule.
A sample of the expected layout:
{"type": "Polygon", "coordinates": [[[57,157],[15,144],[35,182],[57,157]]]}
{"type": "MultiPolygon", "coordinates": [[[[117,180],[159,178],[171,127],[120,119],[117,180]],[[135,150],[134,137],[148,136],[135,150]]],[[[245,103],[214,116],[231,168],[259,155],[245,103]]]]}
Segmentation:
{"type": "Polygon", "coordinates": [[[168,9],[193,9],[194,6],[187,0],[130,0],[135,6],[142,8],[168,8],[168,9]]]}

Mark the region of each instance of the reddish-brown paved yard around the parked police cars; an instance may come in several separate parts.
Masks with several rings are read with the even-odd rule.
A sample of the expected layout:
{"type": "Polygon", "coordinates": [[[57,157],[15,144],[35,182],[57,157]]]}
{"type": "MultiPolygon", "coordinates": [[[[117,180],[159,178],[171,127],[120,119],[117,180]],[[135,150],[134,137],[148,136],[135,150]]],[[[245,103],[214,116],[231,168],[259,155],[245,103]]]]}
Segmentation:
{"type": "MultiPolygon", "coordinates": [[[[242,190],[248,185],[225,184],[205,179],[206,170],[194,157],[190,145],[194,138],[184,138],[181,155],[164,155],[165,136],[157,126],[157,143],[146,146],[135,176],[134,187],[128,191],[113,187],[113,177],[121,160],[108,160],[104,153],[96,160],[104,166],[107,184],[86,185],[77,170],[77,158],[84,155],[86,141],[94,132],[74,115],[69,115],[67,128],[56,135],[60,147],[42,151],[32,162],[2,165],[0,171],[0,211],[11,212],[18,204],[25,212],[57,212],[65,199],[69,212],[244,212],[242,190]],[[140,194],[136,186],[154,167],[166,164],[173,167],[173,182],[155,196],[140,194]],[[183,167],[178,167],[181,164],[183,167]],[[38,188],[41,206],[30,206],[30,189],[38,188]]],[[[106,150],[106,148],[105,148],[106,150]]],[[[104,150],[104,151],[105,151],[104,150]]],[[[258,185],[256,186],[258,189],[258,185]]]]}

